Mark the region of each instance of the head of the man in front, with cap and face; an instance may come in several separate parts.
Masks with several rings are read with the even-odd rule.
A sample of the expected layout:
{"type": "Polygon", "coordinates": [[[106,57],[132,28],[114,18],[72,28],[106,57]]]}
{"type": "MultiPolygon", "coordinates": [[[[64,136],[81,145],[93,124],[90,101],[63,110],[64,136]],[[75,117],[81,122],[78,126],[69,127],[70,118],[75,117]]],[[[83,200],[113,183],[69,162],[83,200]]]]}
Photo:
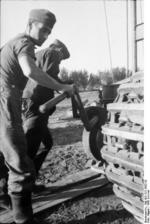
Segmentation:
{"type": "Polygon", "coordinates": [[[47,9],[33,9],[29,13],[27,32],[36,45],[41,46],[56,22],[55,15],[47,9]]]}

